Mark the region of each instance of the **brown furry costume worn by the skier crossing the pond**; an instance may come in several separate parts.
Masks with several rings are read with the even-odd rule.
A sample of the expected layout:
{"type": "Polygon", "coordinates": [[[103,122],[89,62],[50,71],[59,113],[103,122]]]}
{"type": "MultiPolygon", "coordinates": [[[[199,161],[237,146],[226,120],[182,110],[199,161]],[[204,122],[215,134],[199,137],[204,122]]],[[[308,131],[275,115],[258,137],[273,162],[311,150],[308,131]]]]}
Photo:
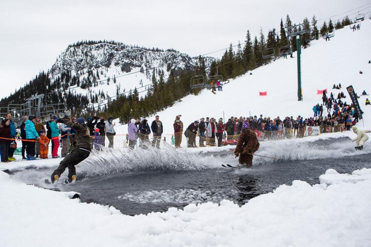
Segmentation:
{"type": "Polygon", "coordinates": [[[252,155],[259,149],[259,141],[256,133],[251,129],[243,129],[238,137],[237,146],[234,153],[239,155],[239,164],[246,164],[246,167],[252,165],[252,155]]]}

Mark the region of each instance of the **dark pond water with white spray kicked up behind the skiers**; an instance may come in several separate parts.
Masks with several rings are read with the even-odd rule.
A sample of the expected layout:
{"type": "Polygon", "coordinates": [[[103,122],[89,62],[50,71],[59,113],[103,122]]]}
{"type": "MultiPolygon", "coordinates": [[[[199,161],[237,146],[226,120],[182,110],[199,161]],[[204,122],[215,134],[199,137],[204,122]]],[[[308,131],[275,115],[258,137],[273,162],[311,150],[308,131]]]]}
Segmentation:
{"type": "MultiPolygon", "coordinates": [[[[329,168],[351,173],[371,167],[371,148],[357,153],[349,138],[294,144],[266,142],[261,143],[259,153],[274,155],[278,162],[254,158],[251,169],[223,168],[221,164],[236,162],[229,149],[104,153],[92,155],[77,166],[80,180],[75,184],[54,187],[79,192],[83,199],[133,215],[164,211],[171,206],[182,208],[190,203],[219,203],[223,199],[243,205],[293,180],[316,184],[329,168]]],[[[40,181],[52,170],[29,169],[16,172],[13,178],[48,187],[40,181]]]]}

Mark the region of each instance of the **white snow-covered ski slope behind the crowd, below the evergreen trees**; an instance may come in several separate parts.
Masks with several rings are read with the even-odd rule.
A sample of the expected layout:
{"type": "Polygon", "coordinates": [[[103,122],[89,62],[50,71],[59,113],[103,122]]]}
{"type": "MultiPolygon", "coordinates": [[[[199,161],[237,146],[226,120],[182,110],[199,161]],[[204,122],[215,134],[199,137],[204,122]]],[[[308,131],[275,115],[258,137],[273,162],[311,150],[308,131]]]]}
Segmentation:
{"type": "MultiPolygon", "coordinates": [[[[302,88],[303,101],[297,98],[297,59],[280,58],[271,64],[262,66],[252,75],[246,74],[223,87],[223,91],[212,94],[203,90],[198,95],[188,95],[182,102],[158,112],[164,124],[164,133],[173,133],[175,116],[182,115],[185,125],[201,117],[217,119],[231,116],[252,116],[281,119],[285,116],[304,118],[313,116],[313,105],[322,103],[322,95],[317,89],[327,88],[334,97],[341,91],[347,96],[345,101],[351,103],[346,86],[353,85],[358,95],[363,90],[371,93],[371,21],[362,22],[361,29],[353,32],[347,26],[335,31],[330,41],[320,39],[312,41],[311,46],[302,49],[302,88]],[[364,74],[360,75],[359,71],[364,74]],[[331,89],[333,84],[341,83],[341,90],[331,89]],[[259,96],[259,91],[267,91],[267,96],[259,96]]],[[[365,112],[365,127],[371,126],[371,106],[365,107],[366,96],[359,102],[365,112]]],[[[327,111],[325,111],[327,115],[327,111]]],[[[149,117],[154,120],[154,116],[149,117]]],[[[118,121],[117,121],[118,122],[118,121]]],[[[119,133],[126,133],[127,126],[117,127],[119,133]]]]}

